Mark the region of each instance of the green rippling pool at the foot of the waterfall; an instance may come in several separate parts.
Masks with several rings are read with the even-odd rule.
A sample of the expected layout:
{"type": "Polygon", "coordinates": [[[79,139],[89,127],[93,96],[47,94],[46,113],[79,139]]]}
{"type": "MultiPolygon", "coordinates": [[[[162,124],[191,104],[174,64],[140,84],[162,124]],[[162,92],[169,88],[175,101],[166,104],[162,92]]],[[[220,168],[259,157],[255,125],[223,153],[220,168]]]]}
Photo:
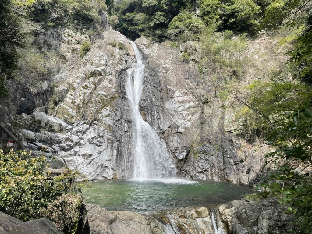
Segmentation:
{"type": "Polygon", "coordinates": [[[152,212],[209,206],[250,193],[247,188],[230,183],[182,179],[101,181],[93,185],[82,190],[85,202],[112,211],[152,212]]]}

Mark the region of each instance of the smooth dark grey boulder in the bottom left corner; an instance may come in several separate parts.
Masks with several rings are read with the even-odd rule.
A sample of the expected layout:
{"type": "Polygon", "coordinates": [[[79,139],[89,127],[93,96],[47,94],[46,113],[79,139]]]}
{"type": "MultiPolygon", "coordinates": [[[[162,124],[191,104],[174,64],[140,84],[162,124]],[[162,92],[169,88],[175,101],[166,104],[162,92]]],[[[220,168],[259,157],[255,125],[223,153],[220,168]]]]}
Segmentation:
{"type": "Polygon", "coordinates": [[[36,219],[22,222],[17,218],[0,212],[1,234],[64,234],[54,224],[46,219],[36,219]]]}

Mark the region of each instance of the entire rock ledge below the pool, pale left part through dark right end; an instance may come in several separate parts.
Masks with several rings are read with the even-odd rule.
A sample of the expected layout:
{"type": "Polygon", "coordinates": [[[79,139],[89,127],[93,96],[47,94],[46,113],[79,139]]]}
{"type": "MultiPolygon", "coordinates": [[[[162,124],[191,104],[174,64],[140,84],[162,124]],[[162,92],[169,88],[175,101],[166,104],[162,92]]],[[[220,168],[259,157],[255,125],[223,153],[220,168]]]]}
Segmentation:
{"type": "Polygon", "coordinates": [[[284,234],[292,229],[293,219],[276,199],[244,199],[218,208],[177,208],[149,215],[95,205],[87,209],[91,234],[284,234]]]}

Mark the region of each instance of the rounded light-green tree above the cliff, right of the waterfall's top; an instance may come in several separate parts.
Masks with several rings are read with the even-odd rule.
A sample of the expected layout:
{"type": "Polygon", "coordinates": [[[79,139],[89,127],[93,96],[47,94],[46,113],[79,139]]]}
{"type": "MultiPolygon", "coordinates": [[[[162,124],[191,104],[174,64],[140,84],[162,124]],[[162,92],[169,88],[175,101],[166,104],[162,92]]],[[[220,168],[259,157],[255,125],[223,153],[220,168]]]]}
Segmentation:
{"type": "Polygon", "coordinates": [[[188,10],[183,10],[170,22],[168,34],[170,39],[181,43],[198,40],[204,30],[205,25],[200,18],[194,18],[188,10]]]}

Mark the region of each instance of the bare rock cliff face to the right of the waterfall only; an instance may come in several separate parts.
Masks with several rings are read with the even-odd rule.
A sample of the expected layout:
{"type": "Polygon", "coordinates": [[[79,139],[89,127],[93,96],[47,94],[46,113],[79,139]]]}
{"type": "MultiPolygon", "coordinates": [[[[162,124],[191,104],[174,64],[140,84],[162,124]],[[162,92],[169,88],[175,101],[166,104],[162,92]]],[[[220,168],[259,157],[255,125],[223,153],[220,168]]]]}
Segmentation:
{"type": "Polygon", "coordinates": [[[141,110],[163,137],[177,160],[180,175],[249,185],[262,173],[263,155],[270,149],[235,136],[240,123],[233,101],[214,97],[212,87],[197,75],[200,48],[187,42],[180,50],[146,38],[136,41],[146,55],[141,110]],[[191,61],[181,60],[187,52],[191,61]]]}

